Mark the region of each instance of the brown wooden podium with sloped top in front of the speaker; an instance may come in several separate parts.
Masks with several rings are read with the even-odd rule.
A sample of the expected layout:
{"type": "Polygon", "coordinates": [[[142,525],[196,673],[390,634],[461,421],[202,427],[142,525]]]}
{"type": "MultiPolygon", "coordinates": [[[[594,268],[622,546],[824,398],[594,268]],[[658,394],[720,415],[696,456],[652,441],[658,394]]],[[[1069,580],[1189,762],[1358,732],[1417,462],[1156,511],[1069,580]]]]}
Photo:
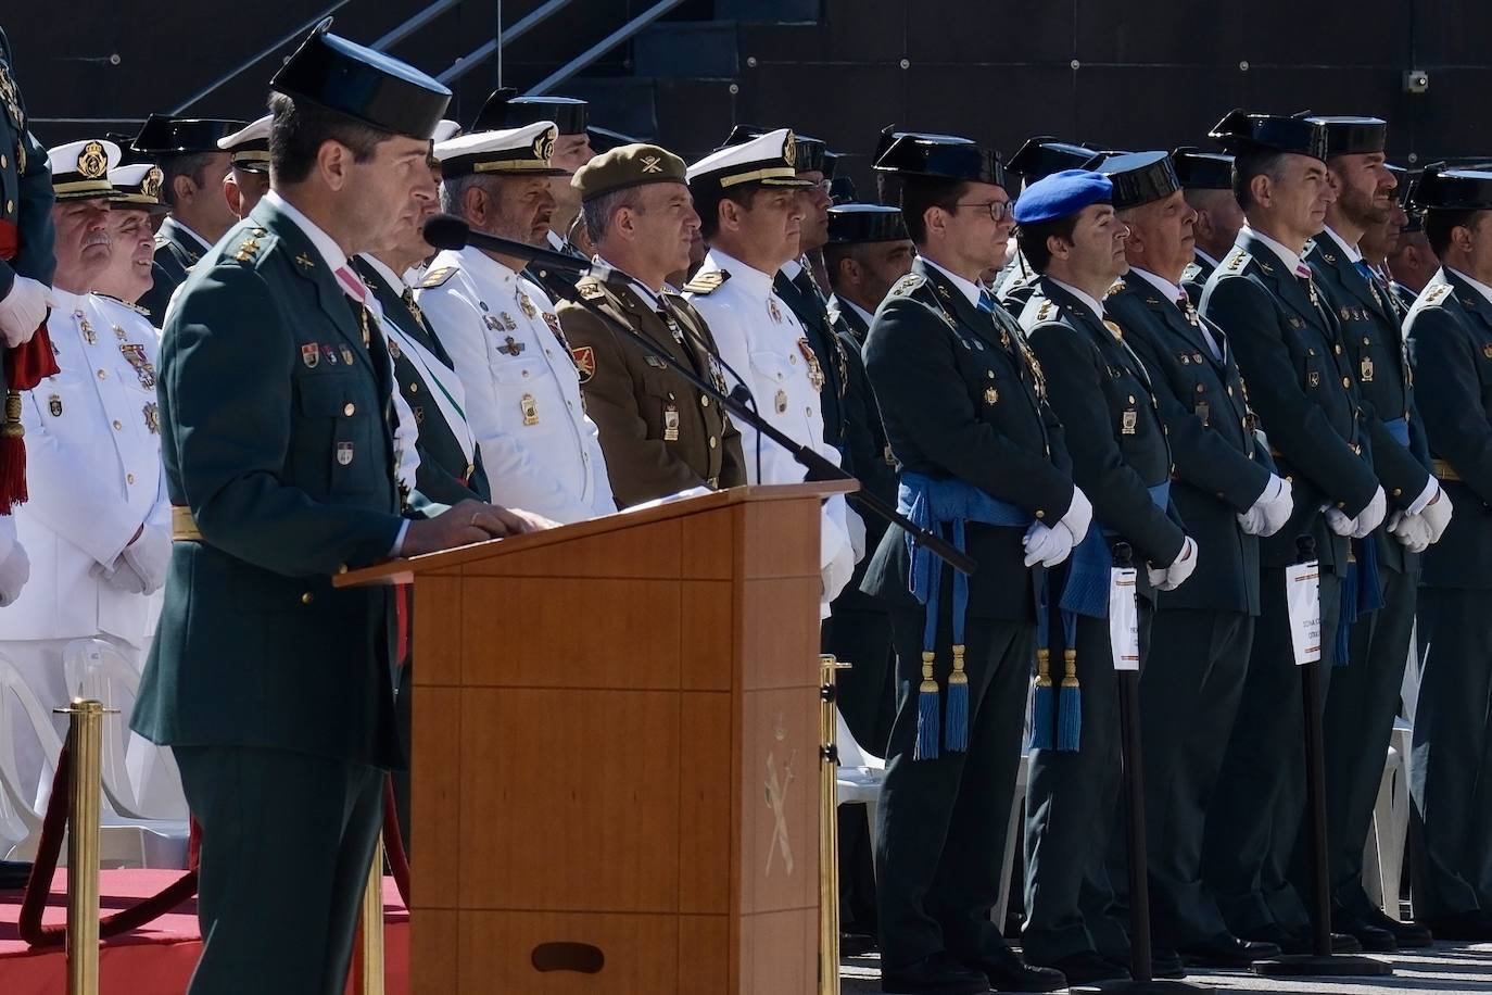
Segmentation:
{"type": "Polygon", "coordinates": [[[721,491],[415,582],[413,995],[812,995],[819,503],[721,491]]]}

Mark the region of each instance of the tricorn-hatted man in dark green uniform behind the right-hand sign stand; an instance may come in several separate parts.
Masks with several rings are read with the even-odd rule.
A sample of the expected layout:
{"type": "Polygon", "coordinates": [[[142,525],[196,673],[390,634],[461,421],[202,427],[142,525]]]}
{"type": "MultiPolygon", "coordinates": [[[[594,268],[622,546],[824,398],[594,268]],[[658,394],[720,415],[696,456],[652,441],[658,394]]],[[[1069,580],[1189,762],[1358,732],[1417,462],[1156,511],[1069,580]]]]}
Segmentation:
{"type": "Polygon", "coordinates": [[[1335,658],[1349,536],[1367,536],[1383,521],[1386,497],[1367,458],[1371,427],[1337,319],[1300,258],[1329,201],[1325,130],[1235,110],[1212,137],[1235,157],[1235,189],[1243,191],[1249,224],[1207,280],[1200,310],[1228,336],[1279,473],[1292,482],[1295,509],[1259,543],[1259,621],[1207,813],[1203,871],[1234,935],[1306,952],[1308,914],[1286,874],[1306,810],[1306,773],[1285,567],[1297,559],[1297,536],[1314,537],[1326,673],[1335,658]],[[1262,203],[1252,191],[1264,183],[1271,160],[1288,167],[1288,178],[1276,182],[1292,183],[1294,195],[1262,203]]]}

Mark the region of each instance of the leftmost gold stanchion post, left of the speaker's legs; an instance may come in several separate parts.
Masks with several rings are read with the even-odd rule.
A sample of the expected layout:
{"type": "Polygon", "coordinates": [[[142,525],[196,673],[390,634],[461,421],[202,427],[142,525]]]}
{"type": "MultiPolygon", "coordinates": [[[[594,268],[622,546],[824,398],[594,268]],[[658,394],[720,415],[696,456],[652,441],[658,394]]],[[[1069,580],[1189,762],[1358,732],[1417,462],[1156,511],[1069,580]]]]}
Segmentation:
{"type": "Polygon", "coordinates": [[[98,809],[103,764],[101,701],[75,698],[67,716],[73,765],[67,798],[67,992],[98,995],[98,809]]]}

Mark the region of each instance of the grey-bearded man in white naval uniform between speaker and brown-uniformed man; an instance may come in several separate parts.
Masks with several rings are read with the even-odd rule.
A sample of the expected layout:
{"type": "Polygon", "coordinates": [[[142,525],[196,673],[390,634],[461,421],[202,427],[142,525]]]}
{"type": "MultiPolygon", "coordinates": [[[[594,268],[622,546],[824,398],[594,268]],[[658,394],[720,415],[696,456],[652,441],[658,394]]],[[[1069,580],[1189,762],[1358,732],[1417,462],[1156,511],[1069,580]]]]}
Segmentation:
{"type": "MultiPolygon", "coordinates": [[[[436,145],[442,206],[473,231],[542,243],[554,210],[555,125],[436,145]]],[[[434,258],[418,303],[455,362],[492,501],[557,522],[616,510],[595,422],[554,304],[522,260],[467,246],[434,258]]]]}

